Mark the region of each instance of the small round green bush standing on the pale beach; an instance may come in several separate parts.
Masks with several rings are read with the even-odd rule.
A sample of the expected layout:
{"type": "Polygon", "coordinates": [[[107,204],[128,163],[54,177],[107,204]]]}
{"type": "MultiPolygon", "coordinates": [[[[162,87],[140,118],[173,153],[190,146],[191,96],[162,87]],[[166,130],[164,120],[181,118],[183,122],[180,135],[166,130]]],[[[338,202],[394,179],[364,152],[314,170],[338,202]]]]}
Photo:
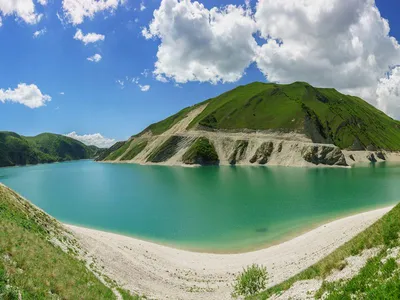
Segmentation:
{"type": "Polygon", "coordinates": [[[256,264],[243,270],[236,278],[232,297],[252,296],[265,289],[268,279],[267,269],[256,264]]]}

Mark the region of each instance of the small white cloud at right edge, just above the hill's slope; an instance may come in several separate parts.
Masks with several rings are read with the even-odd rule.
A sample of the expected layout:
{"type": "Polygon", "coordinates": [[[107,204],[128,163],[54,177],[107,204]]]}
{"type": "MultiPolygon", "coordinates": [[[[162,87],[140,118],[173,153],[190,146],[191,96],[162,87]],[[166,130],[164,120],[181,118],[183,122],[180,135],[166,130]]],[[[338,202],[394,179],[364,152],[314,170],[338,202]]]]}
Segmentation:
{"type": "Polygon", "coordinates": [[[400,67],[379,81],[376,95],[378,108],[392,117],[400,117],[400,67]]]}

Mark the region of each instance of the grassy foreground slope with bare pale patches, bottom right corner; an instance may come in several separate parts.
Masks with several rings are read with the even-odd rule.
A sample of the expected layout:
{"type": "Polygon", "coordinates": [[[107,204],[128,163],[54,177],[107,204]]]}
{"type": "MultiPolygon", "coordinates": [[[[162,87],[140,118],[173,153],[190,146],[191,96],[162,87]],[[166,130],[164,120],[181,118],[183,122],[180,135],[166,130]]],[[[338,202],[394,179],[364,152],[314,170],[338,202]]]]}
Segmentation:
{"type": "Polygon", "coordinates": [[[315,265],[251,300],[301,292],[307,299],[399,299],[400,204],[315,265]],[[366,255],[368,254],[369,255],[366,255]],[[307,284],[314,285],[307,289],[307,284]],[[300,289],[296,289],[301,287],[300,289]]]}

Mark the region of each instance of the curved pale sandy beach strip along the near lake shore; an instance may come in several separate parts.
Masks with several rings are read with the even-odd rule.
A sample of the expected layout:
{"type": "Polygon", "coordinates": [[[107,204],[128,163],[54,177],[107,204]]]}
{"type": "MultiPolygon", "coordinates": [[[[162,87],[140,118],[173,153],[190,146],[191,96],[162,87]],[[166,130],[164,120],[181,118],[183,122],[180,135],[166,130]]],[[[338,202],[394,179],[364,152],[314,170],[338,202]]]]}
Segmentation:
{"type": "Polygon", "coordinates": [[[372,225],[393,206],[322,225],[287,242],[240,254],[175,249],[128,236],[65,225],[88,258],[124,288],[149,299],[231,299],[235,274],[253,263],[267,267],[268,285],[313,265],[372,225]]]}

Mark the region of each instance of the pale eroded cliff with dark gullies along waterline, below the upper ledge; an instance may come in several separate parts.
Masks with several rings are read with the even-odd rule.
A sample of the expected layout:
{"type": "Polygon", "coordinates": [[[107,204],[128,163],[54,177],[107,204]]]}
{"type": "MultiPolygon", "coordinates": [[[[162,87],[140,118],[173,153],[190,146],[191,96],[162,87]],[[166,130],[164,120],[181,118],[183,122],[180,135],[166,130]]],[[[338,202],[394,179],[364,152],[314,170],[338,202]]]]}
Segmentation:
{"type": "Polygon", "coordinates": [[[128,142],[132,146],[116,159],[117,162],[208,165],[210,163],[202,161],[218,161],[220,165],[347,166],[344,154],[334,145],[282,140],[267,134],[227,136],[217,132],[187,132],[169,137],[141,137],[128,142]],[[147,146],[132,158],[131,150],[143,140],[147,146]],[[207,149],[198,149],[199,140],[206,141],[207,149]],[[187,159],[188,156],[193,159],[187,159]]]}

